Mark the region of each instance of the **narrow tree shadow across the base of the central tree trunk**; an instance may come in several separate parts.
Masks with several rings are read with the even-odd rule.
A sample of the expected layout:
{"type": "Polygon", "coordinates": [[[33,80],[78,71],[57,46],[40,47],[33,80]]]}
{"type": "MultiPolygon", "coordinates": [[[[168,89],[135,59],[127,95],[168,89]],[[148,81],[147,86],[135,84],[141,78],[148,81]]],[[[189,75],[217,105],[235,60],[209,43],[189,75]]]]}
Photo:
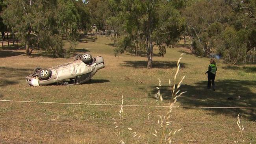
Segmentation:
{"type": "MultiPolygon", "coordinates": [[[[148,61],[124,61],[120,66],[147,68],[148,61]]],[[[181,68],[185,68],[186,63],[180,63],[181,68]]],[[[153,61],[152,68],[174,68],[177,67],[176,61],[153,61]]]]}

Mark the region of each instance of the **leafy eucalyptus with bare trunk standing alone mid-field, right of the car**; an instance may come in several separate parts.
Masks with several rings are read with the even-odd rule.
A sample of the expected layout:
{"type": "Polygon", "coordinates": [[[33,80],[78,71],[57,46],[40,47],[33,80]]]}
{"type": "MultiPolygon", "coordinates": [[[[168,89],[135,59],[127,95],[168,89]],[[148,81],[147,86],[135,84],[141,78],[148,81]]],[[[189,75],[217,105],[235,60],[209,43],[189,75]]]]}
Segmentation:
{"type": "Polygon", "coordinates": [[[140,39],[147,50],[147,68],[151,68],[153,48],[157,46],[159,54],[164,56],[166,48],[176,42],[183,31],[184,19],[173,1],[122,0],[121,5],[121,21],[126,40],[121,41],[116,52],[122,53],[130,48],[127,40],[140,39]]]}

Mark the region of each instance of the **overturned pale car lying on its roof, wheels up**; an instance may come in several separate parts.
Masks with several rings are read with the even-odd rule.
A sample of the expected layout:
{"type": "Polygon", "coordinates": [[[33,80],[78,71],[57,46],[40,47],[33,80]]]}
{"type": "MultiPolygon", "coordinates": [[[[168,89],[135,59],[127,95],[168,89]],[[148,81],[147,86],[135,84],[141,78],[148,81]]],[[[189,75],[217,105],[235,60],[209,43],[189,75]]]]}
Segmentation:
{"type": "Polygon", "coordinates": [[[93,75],[104,68],[101,56],[92,57],[91,54],[78,54],[74,61],[58,65],[49,69],[36,68],[33,74],[26,77],[28,85],[77,85],[89,81],[93,75]]]}

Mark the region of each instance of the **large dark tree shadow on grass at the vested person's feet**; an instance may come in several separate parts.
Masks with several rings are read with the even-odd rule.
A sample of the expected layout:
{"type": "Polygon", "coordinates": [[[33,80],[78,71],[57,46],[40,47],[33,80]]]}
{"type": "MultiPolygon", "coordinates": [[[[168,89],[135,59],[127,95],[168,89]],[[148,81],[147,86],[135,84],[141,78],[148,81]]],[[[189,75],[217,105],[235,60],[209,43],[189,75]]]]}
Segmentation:
{"type": "MultiPolygon", "coordinates": [[[[240,80],[219,80],[216,82],[216,91],[206,89],[208,81],[201,81],[193,85],[182,85],[181,90],[187,91],[182,97],[178,98],[178,102],[182,106],[196,107],[255,107],[256,93],[250,88],[256,89],[256,81],[240,81],[240,80]],[[241,99],[238,98],[241,96],[241,99]]],[[[151,93],[157,93],[154,87],[150,87],[151,93]]],[[[161,86],[161,94],[164,100],[171,99],[171,91],[169,86],[161,86]]],[[[250,120],[256,120],[255,109],[209,109],[212,114],[228,114],[237,116],[238,113],[243,114],[250,120]]]]}

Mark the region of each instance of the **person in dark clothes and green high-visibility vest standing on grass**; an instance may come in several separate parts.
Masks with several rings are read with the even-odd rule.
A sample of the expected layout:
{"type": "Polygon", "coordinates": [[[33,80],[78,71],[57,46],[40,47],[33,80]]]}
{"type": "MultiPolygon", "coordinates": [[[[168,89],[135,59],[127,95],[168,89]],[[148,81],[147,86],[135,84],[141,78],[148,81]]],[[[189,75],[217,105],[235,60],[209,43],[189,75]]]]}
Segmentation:
{"type": "Polygon", "coordinates": [[[205,72],[205,74],[208,74],[208,85],[207,88],[211,89],[211,84],[212,84],[212,89],[215,91],[215,76],[216,76],[216,71],[217,71],[217,66],[215,59],[210,59],[210,65],[208,66],[208,71],[205,72]]]}

